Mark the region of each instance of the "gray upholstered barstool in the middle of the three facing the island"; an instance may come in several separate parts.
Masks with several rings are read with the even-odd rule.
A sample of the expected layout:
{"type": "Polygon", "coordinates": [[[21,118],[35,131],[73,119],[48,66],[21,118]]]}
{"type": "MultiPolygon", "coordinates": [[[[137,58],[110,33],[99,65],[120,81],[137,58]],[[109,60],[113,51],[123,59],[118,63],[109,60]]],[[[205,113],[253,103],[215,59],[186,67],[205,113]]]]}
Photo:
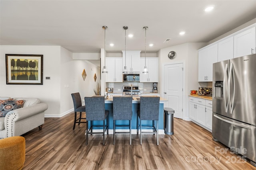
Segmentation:
{"type": "Polygon", "coordinates": [[[130,145],[132,145],[132,97],[114,96],[113,97],[113,145],[115,145],[116,133],[130,133],[130,145]],[[129,120],[128,125],[116,125],[118,120],[129,120]],[[129,127],[129,132],[116,132],[116,127],[129,127]]]}

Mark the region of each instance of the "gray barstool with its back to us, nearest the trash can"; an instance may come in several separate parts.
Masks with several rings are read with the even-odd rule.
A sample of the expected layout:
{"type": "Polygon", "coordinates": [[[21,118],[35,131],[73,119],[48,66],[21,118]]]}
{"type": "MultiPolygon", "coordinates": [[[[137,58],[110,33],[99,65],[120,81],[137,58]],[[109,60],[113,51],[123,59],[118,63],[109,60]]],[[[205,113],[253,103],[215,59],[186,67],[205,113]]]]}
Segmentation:
{"type": "Polygon", "coordinates": [[[141,96],[140,97],[140,109],[138,110],[137,117],[137,134],[140,128],[140,145],[142,145],[142,133],[156,134],[156,144],[158,145],[158,117],[159,117],[159,102],[160,97],[141,96]],[[140,118],[140,124],[138,125],[138,118],[140,118]],[[152,126],[142,126],[142,120],[152,120],[152,126]],[[156,121],[156,126],[154,125],[156,121]],[[143,131],[142,127],[153,129],[153,132],[143,131]]]}

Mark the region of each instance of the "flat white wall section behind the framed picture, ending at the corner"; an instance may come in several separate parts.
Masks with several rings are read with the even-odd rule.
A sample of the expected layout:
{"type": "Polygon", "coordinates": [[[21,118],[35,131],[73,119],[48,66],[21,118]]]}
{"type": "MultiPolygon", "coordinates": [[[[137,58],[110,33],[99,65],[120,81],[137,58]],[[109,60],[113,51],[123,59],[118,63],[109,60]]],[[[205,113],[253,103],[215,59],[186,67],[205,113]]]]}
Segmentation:
{"type": "Polygon", "coordinates": [[[60,112],[60,46],[1,45],[0,96],[39,98],[48,104],[45,114],[60,112]],[[5,54],[36,54],[43,56],[43,85],[6,84],[5,54]],[[45,77],[50,76],[50,80],[45,77]]]}

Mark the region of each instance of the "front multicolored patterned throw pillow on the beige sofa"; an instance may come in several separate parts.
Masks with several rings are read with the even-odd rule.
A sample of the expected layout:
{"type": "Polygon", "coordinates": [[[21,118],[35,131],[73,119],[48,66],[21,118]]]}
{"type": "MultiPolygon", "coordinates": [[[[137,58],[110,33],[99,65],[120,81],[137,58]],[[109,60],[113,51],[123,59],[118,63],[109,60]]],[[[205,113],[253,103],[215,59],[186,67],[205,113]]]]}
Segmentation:
{"type": "Polygon", "coordinates": [[[15,109],[19,109],[23,106],[25,100],[7,100],[0,105],[0,117],[5,117],[6,114],[15,109]]]}

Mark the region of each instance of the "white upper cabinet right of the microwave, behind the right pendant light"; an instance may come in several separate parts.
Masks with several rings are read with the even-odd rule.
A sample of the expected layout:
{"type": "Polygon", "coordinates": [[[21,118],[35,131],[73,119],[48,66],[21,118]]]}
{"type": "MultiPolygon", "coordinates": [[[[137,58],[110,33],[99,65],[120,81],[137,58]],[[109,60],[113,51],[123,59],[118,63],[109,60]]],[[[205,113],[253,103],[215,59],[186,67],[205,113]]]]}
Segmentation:
{"type": "Polygon", "coordinates": [[[148,68],[148,74],[143,74],[145,66],[145,58],[140,58],[140,82],[158,82],[158,58],[148,57],[146,58],[146,66],[148,68]]]}

